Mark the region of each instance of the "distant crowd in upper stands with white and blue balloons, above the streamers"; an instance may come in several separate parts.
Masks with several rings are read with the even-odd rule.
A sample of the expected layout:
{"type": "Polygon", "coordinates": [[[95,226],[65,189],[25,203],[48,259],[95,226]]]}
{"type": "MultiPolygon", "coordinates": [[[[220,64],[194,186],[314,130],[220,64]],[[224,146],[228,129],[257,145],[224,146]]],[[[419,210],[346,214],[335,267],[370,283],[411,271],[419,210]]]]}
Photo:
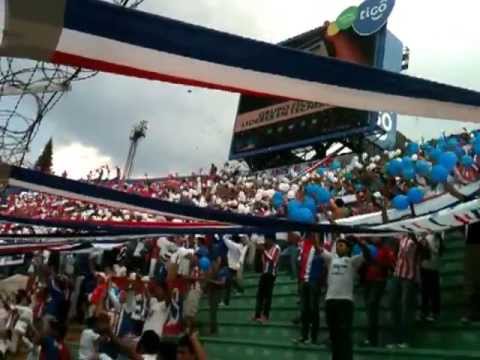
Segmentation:
{"type": "MultiPolygon", "coordinates": [[[[114,179],[109,179],[109,172],[102,168],[85,181],[171,202],[294,220],[298,219],[292,216],[294,212],[289,211],[288,205],[300,200],[301,206],[312,212],[314,220],[325,221],[338,217],[339,211],[345,217],[396,207],[402,199],[396,201],[395,197],[407,194],[412,188],[422,194],[422,199],[443,191],[462,198],[456,188],[478,180],[477,152],[480,152],[480,137],[466,132],[422,145],[410,143],[403,151],[386,151],[382,156],[362,154],[330,159],[326,165],[303,174],[295,171],[283,175],[248,174],[226,164],[221,169],[212,165],[206,175],[127,182],[120,179],[119,171],[114,179]],[[316,186],[313,190],[312,184],[316,186]],[[305,194],[309,199],[305,200],[305,194]]],[[[28,191],[7,195],[0,214],[70,221],[171,220],[28,191]]],[[[3,228],[3,232],[12,233],[15,229],[18,230],[3,228]]]]}

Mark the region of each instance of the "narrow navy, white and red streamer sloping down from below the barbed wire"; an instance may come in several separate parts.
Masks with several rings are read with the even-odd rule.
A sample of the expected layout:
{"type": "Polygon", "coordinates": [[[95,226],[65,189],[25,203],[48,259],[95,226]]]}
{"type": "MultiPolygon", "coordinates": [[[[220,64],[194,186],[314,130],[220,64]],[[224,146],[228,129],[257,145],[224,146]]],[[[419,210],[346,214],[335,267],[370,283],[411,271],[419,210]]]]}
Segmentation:
{"type": "MultiPolygon", "coordinates": [[[[221,228],[224,227],[225,224],[230,224],[244,228],[257,228],[260,229],[259,232],[263,233],[286,231],[337,232],[344,234],[359,232],[379,233],[377,230],[362,228],[361,226],[304,224],[274,217],[242,215],[221,210],[200,208],[193,205],[176,204],[5,164],[0,164],[0,183],[2,182],[10,186],[114,208],[148,212],[168,218],[212,221],[214,223],[212,223],[210,227],[218,228],[219,231],[221,231],[221,228]]],[[[85,224],[85,226],[87,225],[88,224],[85,224]]],[[[105,226],[94,225],[97,230],[105,229],[105,226]]],[[[122,231],[124,230],[125,229],[122,229],[122,231]]],[[[164,229],[149,228],[143,229],[140,233],[146,233],[148,230],[155,233],[161,232],[164,229]]],[[[135,231],[140,231],[140,229],[136,229],[135,231]]],[[[242,231],[245,231],[245,229],[242,229],[242,231]]]]}

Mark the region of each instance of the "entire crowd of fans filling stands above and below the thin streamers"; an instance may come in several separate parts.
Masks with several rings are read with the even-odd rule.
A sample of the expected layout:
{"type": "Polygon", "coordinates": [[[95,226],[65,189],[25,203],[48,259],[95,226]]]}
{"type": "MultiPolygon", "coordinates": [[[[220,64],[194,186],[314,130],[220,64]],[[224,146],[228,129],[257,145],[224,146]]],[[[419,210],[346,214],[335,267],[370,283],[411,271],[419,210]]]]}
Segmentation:
{"type": "MultiPolygon", "coordinates": [[[[306,174],[245,174],[212,166],[208,175],[155,181],[89,181],[142,196],[202,207],[300,221],[335,222],[385,210],[409,189],[422,197],[456,191],[478,179],[480,138],[462,134],[428,144],[409,144],[383,156],[351,156],[306,174]],[[420,164],[422,164],[420,166],[420,164]],[[436,171],[435,168],[444,168],[436,171]],[[444,173],[444,171],[446,174],[444,173]],[[306,210],[305,210],[306,209],[306,210]],[[305,211],[304,211],[305,210],[305,211]],[[308,211],[307,211],[308,210],[308,211]],[[303,216],[303,215],[309,216],[303,216]],[[300,216],[301,215],[301,216],[300,216]]],[[[148,222],[168,220],[55,196],[14,191],[3,214],[78,221],[148,222]]],[[[4,233],[34,231],[2,225],[4,233]]],[[[469,238],[474,239],[476,231],[469,238]]],[[[379,346],[380,303],[390,281],[392,334],[389,346],[411,343],[421,289],[423,320],[440,316],[439,268],[442,239],[437,234],[389,239],[332,234],[288,233],[253,236],[176,236],[130,241],[100,255],[46,252],[31,259],[29,282],[0,305],[0,353],[27,349],[30,359],[72,358],[65,344],[67,324],[85,325],[79,359],[205,359],[198,340],[198,310],[208,299],[206,323],[218,334],[218,307],[232,291],[242,292],[245,268],[261,273],[252,320],[268,322],[275,280],[282,261],[298,281],[299,344],[319,344],[320,303],[325,301],[328,345],[334,359],[352,359],[354,287],[363,287],[368,319],[366,346],[379,346]],[[420,288],[418,285],[421,284],[420,288]],[[174,344],[168,338],[178,338],[174,344]]],[[[475,243],[473,240],[471,241],[475,243]]],[[[29,260],[30,261],[30,260],[29,260]]],[[[472,267],[473,270],[473,267],[472,267]]],[[[467,275],[466,275],[467,276],[467,275]]],[[[475,274],[469,276],[477,278],[475,274]]],[[[469,282],[465,321],[478,315],[477,281],[469,282]]],[[[1,292],[1,289],[0,289],[1,292]]]]}

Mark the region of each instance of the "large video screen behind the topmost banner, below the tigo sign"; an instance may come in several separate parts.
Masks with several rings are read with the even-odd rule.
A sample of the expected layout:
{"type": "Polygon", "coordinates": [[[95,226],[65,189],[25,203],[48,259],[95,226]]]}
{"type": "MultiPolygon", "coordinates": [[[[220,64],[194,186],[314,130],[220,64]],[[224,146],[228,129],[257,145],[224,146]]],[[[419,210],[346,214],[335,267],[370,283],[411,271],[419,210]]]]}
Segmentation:
{"type": "MultiPolygon", "coordinates": [[[[379,43],[385,29],[359,36],[352,29],[329,36],[326,27],[312,30],[281,45],[336,57],[367,66],[378,66],[379,43]]],[[[230,158],[240,159],[289,148],[300,148],[329,139],[373,131],[378,113],[352,110],[308,101],[286,101],[241,96],[230,158]]]]}

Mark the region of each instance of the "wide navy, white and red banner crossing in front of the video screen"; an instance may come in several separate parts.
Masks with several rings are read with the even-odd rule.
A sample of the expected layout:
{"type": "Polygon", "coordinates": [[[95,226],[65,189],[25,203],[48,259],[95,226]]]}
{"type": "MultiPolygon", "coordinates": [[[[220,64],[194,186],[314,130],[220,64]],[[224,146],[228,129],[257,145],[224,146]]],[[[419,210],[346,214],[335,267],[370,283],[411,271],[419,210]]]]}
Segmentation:
{"type": "Polygon", "coordinates": [[[0,34],[0,56],[360,110],[480,119],[474,91],[99,0],[0,0],[0,34]]]}

